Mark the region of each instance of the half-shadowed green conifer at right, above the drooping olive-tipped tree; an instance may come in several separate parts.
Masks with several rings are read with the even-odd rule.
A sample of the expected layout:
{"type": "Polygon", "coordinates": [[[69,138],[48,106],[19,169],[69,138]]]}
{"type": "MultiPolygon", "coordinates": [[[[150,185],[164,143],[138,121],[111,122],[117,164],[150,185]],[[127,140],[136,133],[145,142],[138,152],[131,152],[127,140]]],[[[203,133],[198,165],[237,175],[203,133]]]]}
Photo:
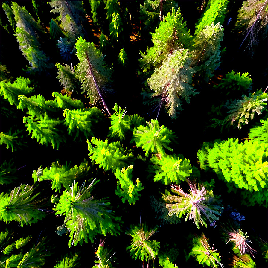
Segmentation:
{"type": "Polygon", "coordinates": [[[230,90],[241,91],[245,93],[252,89],[252,79],[249,78],[249,73],[235,74],[235,71],[227,73],[225,78],[223,78],[218,85],[214,85],[214,88],[220,90],[225,95],[230,93],[230,90]]]}

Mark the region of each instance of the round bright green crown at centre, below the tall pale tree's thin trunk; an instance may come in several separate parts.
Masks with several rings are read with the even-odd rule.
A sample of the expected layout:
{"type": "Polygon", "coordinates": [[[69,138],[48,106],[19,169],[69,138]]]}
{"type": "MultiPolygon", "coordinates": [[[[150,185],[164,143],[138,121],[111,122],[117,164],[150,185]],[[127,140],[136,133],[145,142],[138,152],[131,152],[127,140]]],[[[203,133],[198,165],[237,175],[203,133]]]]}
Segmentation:
{"type": "Polygon", "coordinates": [[[133,138],[130,142],[135,141],[136,146],[141,147],[145,151],[147,157],[149,153],[158,153],[164,155],[164,148],[173,151],[168,144],[174,141],[175,135],[164,125],[161,127],[157,120],[146,122],[147,126],[140,125],[133,131],[133,138]]]}

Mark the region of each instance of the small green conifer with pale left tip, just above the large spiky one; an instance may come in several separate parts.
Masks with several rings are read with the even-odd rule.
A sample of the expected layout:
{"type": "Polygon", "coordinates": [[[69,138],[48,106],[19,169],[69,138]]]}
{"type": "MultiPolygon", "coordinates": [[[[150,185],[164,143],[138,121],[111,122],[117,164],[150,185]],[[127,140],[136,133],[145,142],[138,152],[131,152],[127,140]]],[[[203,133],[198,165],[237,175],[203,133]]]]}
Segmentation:
{"type": "Polygon", "coordinates": [[[38,170],[33,170],[33,180],[37,182],[37,180],[50,180],[52,183],[51,189],[55,189],[55,191],[59,191],[61,189],[61,185],[67,190],[70,189],[70,185],[74,182],[75,179],[86,176],[89,171],[89,164],[84,159],[84,161],[77,167],[74,166],[71,168],[71,163],[67,165],[60,165],[60,162],[54,162],[51,164],[50,168],[42,169],[40,167],[38,170]]]}

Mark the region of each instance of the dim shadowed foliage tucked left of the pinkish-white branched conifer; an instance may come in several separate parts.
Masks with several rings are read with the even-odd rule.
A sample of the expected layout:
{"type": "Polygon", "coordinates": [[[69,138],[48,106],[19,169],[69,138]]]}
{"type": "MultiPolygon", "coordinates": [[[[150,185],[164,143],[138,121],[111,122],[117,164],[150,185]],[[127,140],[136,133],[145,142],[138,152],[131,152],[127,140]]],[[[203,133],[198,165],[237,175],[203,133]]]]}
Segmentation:
{"type": "Polygon", "coordinates": [[[168,204],[163,200],[165,196],[160,199],[160,201],[156,200],[154,196],[150,197],[151,206],[156,212],[156,219],[161,220],[161,224],[176,224],[180,222],[180,218],[176,217],[175,214],[168,216],[168,204]]]}

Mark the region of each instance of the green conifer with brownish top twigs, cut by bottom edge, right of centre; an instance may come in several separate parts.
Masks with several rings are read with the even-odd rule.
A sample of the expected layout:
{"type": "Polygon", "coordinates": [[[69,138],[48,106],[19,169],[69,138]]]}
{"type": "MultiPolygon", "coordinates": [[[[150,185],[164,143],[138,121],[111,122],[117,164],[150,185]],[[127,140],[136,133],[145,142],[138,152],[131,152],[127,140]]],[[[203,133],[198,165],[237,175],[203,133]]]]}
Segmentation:
{"type": "Polygon", "coordinates": [[[192,243],[193,246],[189,256],[195,257],[199,264],[201,263],[203,267],[205,265],[209,267],[218,267],[218,265],[220,265],[220,267],[223,267],[220,263],[221,259],[219,253],[215,252],[217,249],[214,249],[214,245],[211,249],[208,238],[206,238],[203,233],[201,237],[196,235],[192,243]]]}

